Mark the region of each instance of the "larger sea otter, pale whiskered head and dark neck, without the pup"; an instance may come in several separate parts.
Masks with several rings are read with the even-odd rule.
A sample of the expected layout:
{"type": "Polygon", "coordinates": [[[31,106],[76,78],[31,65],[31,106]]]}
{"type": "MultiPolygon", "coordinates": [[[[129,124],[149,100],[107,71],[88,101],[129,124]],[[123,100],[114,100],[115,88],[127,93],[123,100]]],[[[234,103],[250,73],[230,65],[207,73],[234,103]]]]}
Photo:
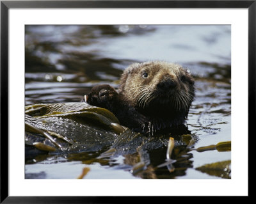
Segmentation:
{"type": "Polygon", "coordinates": [[[194,79],[182,66],[163,61],[134,63],[120,78],[118,95],[148,119],[142,132],[184,125],[195,97],[194,79]]]}

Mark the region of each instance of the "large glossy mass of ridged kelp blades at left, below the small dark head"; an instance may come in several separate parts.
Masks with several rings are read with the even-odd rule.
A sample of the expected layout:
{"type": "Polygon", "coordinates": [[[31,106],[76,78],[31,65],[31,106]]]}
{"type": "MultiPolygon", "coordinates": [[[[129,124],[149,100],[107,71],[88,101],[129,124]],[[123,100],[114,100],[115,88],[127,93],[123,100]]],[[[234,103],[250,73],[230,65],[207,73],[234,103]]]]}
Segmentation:
{"type": "Polygon", "coordinates": [[[86,103],[25,107],[26,145],[53,153],[97,151],[112,145],[124,128],[107,109],[86,103]]]}

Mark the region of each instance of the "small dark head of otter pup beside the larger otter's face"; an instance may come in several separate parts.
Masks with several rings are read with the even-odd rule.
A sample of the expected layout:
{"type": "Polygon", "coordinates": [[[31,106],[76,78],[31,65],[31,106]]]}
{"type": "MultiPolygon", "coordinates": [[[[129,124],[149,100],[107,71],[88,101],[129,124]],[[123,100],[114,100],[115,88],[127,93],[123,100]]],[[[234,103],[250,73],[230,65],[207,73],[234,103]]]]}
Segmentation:
{"type": "Polygon", "coordinates": [[[108,108],[118,93],[108,84],[94,86],[88,94],[86,102],[92,106],[108,108]]]}

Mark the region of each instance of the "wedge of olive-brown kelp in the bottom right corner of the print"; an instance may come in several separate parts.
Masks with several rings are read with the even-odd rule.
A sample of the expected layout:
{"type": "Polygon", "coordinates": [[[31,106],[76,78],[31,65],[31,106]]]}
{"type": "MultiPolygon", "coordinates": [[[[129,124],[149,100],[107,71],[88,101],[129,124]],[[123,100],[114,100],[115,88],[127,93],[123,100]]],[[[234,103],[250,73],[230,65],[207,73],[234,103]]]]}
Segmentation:
{"type": "Polygon", "coordinates": [[[231,161],[228,160],[205,164],[204,166],[196,168],[196,170],[216,177],[231,178],[231,161]]]}

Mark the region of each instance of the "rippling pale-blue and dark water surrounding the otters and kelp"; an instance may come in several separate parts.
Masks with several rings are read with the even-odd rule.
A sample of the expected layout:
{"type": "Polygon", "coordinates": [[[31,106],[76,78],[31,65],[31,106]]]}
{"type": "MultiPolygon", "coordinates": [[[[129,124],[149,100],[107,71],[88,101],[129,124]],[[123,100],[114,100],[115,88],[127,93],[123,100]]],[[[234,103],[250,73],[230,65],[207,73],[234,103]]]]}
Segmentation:
{"type": "MultiPolygon", "coordinates": [[[[97,84],[117,88],[131,63],[175,62],[189,68],[196,80],[188,116],[195,148],[230,141],[230,38],[230,26],[26,26],[26,105],[79,102],[97,84]]],[[[152,165],[136,175],[129,170],[136,155],[104,162],[93,160],[99,153],[90,152],[30,159],[26,178],[77,178],[84,168],[90,168],[84,178],[225,178],[196,168],[230,161],[231,152],[175,148],[174,157],[185,159],[173,164],[173,172],[152,168],[165,159],[166,146],[159,145],[148,154],[152,165]]]]}

